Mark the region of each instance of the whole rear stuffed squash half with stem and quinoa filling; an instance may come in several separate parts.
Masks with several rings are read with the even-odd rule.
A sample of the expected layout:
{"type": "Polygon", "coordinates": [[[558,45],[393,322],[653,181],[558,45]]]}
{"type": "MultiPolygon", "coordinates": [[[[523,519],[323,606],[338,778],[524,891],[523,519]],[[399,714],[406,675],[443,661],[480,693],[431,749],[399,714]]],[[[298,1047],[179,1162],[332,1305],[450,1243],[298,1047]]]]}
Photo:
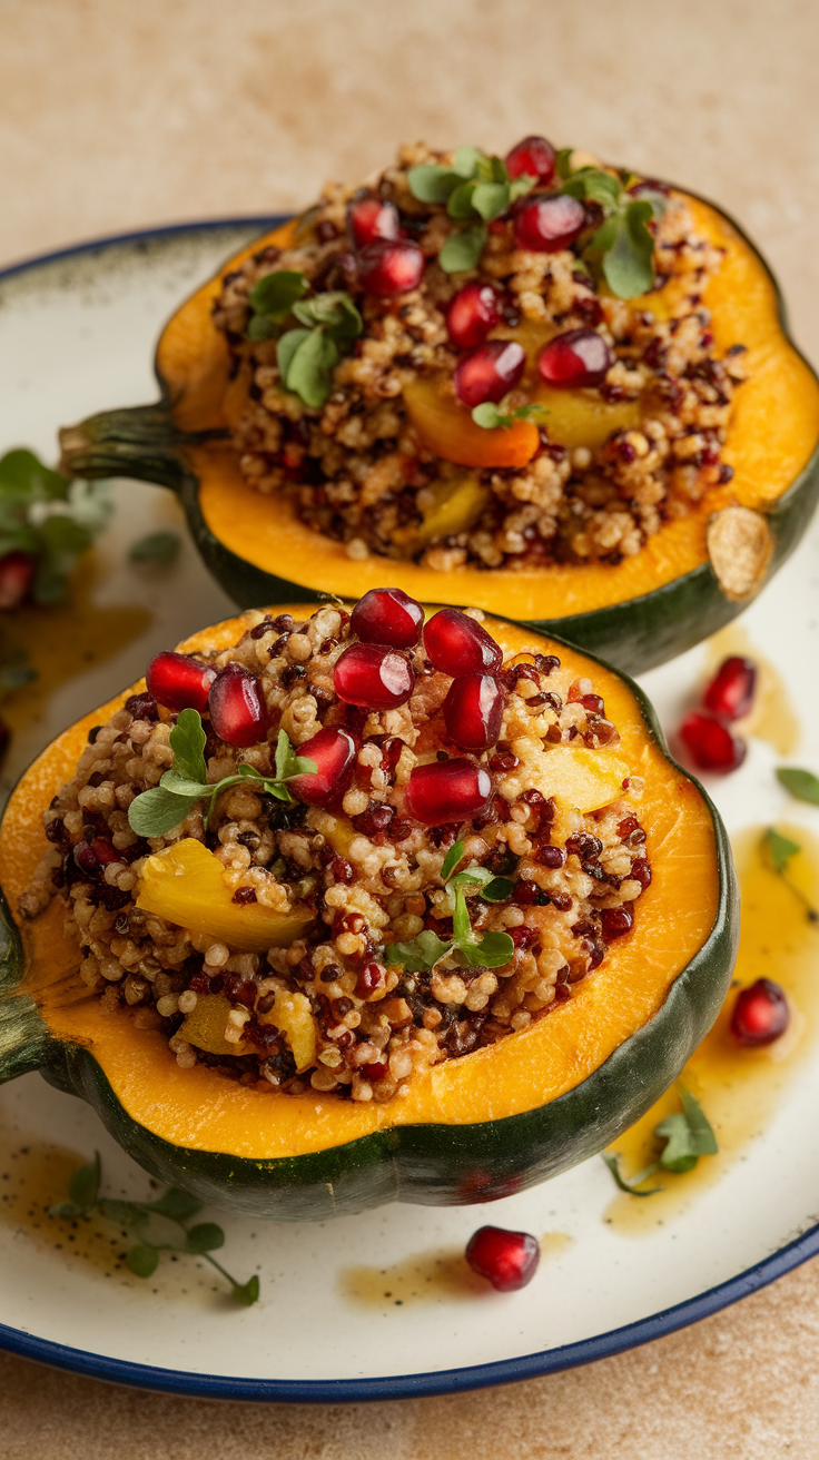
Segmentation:
{"type": "Polygon", "coordinates": [[[63,470],[174,488],[242,607],[388,577],[631,673],[733,618],[819,492],[818,383],[755,248],[545,139],[328,187],[182,305],[156,371],[158,404],[63,432],[63,470]]]}

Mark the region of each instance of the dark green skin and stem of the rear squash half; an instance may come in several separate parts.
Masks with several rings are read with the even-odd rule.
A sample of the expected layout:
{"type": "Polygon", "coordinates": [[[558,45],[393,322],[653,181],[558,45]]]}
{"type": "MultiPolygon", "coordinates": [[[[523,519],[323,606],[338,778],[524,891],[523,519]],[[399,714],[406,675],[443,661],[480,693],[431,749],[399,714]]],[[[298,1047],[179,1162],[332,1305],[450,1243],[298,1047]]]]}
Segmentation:
{"type": "MultiPolygon", "coordinates": [[[[672,184],[673,185],[673,184],[672,184]]],[[[691,197],[698,194],[685,190],[691,197]]],[[[775,296],[780,328],[815,378],[816,372],[794,345],[778,283],[747,234],[717,204],[701,199],[731,225],[747,244],[766,273],[775,296]]],[[[277,219],[273,222],[283,222],[277,219]]],[[[188,521],[188,529],[201,558],[225,593],[239,609],[260,603],[320,603],[321,588],[291,583],[286,575],[267,572],[231,552],[213,536],[199,505],[199,479],[185,458],[185,445],[201,445],[207,439],[225,439],[223,431],[206,431],[185,437],[172,420],[172,400],[159,371],[156,377],[161,400],[153,406],[91,416],[66,434],[67,447],[60,463],[67,474],[80,477],[131,476],[155,482],[177,492],[188,521]]],[[[819,442],[810,460],[783,495],[768,510],[766,521],[774,539],[774,552],[765,583],[781,568],[799,545],[819,502],[819,442]]],[[[390,559],[384,559],[385,569],[390,559]]],[[[447,578],[441,583],[444,603],[447,578]]],[[[764,584],[761,584],[764,587],[764,584]]],[[[530,628],[549,637],[562,635],[578,648],[600,654],[626,675],[641,675],[666,660],[682,654],[711,634],[724,628],[750,600],[733,602],[724,596],[708,562],[672,583],[663,584],[637,599],[609,604],[588,613],[556,619],[527,619],[530,628]]],[[[463,606],[463,604],[454,604],[463,606]]],[[[495,609],[488,609],[495,613],[495,609]]]]}

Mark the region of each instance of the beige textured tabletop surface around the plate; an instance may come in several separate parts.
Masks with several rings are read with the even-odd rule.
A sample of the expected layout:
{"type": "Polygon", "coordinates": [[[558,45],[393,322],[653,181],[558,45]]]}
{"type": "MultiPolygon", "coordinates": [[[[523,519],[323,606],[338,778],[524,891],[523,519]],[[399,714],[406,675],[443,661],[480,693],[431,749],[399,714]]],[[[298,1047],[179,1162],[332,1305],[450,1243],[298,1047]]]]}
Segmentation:
{"type": "MultiPolygon", "coordinates": [[[[718,199],[818,359],[818,76],[813,0],[0,0],[0,267],[286,210],[400,139],[537,130],[718,199]]],[[[455,1399],[210,1405],[0,1356],[0,1454],[813,1460],[818,1375],[813,1263],[644,1349],[455,1399]]]]}

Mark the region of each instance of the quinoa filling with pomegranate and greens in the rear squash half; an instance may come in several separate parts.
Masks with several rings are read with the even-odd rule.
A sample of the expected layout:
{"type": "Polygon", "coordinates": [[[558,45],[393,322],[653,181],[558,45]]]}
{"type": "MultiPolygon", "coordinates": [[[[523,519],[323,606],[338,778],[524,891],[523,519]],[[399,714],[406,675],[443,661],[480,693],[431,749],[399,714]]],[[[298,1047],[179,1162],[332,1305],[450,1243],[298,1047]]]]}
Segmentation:
{"type": "MultiPolygon", "coordinates": [[[[517,150],[483,162],[514,175],[517,150]]],[[[458,155],[404,146],[368,187],[327,185],[292,247],[263,248],[225,276],[213,318],[231,355],[226,412],[241,472],[260,492],[285,492],[353,559],[380,553],[442,572],[618,564],[733,476],[721,451],[745,346],[720,355],[702,304],[723,251],[682,194],[561,156],[562,182],[524,158],[540,168],[524,174],[530,191],[488,226],[464,226],[469,199],[453,216],[451,201],[420,200],[413,181],[458,155]],[[639,225],[650,298],[618,296],[606,282],[600,178],[619,190],[618,218],[629,200],[651,199],[639,225]],[[564,238],[546,237],[543,201],[580,209],[564,238]],[[464,238],[480,229],[470,260],[464,238]],[[460,258],[447,256],[453,239],[460,258]],[[489,415],[473,420],[476,404],[489,415]],[[524,418],[533,444],[523,464],[492,464],[486,442],[498,431],[464,454],[464,423],[473,438],[479,419],[511,438],[524,418]]]]}

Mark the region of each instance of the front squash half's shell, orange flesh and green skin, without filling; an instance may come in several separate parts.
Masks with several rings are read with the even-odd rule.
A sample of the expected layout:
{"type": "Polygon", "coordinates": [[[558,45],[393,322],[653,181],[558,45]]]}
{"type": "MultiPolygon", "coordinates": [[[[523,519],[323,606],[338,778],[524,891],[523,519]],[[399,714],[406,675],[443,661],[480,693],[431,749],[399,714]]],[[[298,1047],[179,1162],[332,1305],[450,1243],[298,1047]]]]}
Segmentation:
{"type": "MultiPolygon", "coordinates": [[[[559,639],[498,620],[488,626],[505,651],[556,648],[575,675],[593,676],[620,730],[618,756],[645,781],[639,815],[653,880],[632,933],[571,1000],[495,1045],[425,1070],[404,1098],[385,1104],[264,1092],[204,1064],[180,1069],[159,1031],[134,1028],[124,1007],[104,1013],[89,996],[58,898],[22,926],[10,911],[44,848],[44,809],[73,772],[89,729],[131,686],[60,734],[6,807],[0,1079],[41,1069],[89,1101],[159,1180],[299,1221],[396,1199],[501,1197],[575,1165],[638,1120],[679,1075],[728,986],[739,908],[726,832],[698,783],[669,758],[637,686],[559,639]]],[[[229,620],[180,647],[225,648],[239,634],[229,620]]]]}

